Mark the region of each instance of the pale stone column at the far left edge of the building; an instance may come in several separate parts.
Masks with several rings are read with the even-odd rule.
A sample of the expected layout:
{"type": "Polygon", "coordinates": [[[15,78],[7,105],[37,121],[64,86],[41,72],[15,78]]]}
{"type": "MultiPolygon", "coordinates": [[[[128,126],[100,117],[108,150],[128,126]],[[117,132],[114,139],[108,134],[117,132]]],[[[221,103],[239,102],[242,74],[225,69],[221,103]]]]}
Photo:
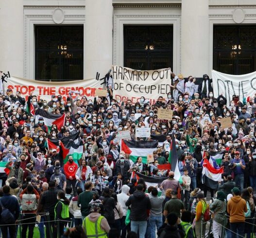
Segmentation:
{"type": "Polygon", "coordinates": [[[0,70],[23,78],[23,1],[0,0],[0,70]]]}

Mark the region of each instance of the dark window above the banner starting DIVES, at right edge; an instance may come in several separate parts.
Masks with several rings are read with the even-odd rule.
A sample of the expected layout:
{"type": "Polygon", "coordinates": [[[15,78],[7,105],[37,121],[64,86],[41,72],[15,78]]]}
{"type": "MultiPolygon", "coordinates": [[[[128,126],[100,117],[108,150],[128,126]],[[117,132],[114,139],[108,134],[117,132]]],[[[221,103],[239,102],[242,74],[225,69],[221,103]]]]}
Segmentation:
{"type": "Polygon", "coordinates": [[[256,26],[214,26],[213,69],[233,75],[254,72],[256,26]]]}

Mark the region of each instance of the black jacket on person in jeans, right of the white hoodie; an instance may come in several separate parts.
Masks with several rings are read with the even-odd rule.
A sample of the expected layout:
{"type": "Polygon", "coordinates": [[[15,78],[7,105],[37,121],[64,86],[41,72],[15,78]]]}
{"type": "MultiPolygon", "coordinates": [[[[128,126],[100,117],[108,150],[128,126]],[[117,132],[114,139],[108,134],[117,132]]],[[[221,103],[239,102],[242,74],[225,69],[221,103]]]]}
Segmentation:
{"type": "Polygon", "coordinates": [[[131,221],[147,221],[147,209],[151,209],[151,203],[148,196],[143,191],[136,190],[125,203],[125,206],[131,206],[131,221]],[[132,205],[132,206],[131,206],[132,205]]]}

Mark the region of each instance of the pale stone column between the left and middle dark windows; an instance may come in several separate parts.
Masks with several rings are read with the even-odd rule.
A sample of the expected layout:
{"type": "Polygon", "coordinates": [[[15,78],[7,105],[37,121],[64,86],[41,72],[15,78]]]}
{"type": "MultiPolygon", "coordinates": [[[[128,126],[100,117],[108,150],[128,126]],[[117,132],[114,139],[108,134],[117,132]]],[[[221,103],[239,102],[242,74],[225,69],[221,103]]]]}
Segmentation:
{"type": "Polygon", "coordinates": [[[113,63],[112,0],[85,1],[85,79],[102,78],[113,63]]]}

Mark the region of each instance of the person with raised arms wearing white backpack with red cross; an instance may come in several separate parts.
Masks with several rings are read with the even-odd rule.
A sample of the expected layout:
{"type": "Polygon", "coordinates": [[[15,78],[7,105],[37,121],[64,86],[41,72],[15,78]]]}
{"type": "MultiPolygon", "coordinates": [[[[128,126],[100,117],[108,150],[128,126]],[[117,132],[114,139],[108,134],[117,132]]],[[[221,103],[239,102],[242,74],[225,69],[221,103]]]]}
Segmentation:
{"type": "Polygon", "coordinates": [[[22,219],[24,219],[24,222],[22,222],[21,238],[27,237],[26,234],[27,234],[28,228],[29,228],[28,238],[33,238],[39,193],[31,185],[31,182],[29,182],[27,188],[20,193],[19,198],[21,201],[21,208],[23,213],[22,219]]]}

